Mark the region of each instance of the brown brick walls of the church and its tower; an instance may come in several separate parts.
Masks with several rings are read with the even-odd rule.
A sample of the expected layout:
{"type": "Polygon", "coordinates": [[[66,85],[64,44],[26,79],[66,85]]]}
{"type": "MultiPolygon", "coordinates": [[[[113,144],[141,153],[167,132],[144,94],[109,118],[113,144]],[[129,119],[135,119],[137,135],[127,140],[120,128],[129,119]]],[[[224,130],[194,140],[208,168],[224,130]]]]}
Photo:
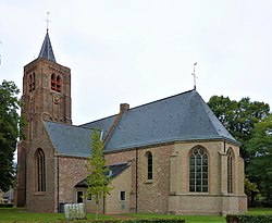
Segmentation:
{"type": "MultiPolygon", "coordinates": [[[[24,69],[22,115],[26,139],[18,145],[16,205],[30,211],[58,212],[60,203],[76,202],[75,185],[87,176],[87,158],[59,156],[44,121],[72,124],[70,69],[37,59],[24,69]],[[51,74],[62,77],[61,92],[51,90],[51,74]],[[29,75],[35,90],[29,91],[29,75]],[[46,162],[46,191],[37,191],[35,154],[42,149],[46,162]]],[[[127,104],[123,106],[128,109],[127,104]]],[[[122,115],[122,111],[121,114],[122,115]]],[[[114,131],[114,129],[113,129],[114,131]]],[[[244,194],[244,161],[239,148],[223,140],[175,141],[106,153],[107,165],[127,162],[129,168],[112,181],[113,190],[100,202],[106,213],[226,214],[247,210],[244,194]],[[196,146],[208,152],[209,191],[189,193],[189,152],[196,146]],[[227,149],[234,153],[234,189],[227,194],[227,149]],[[147,178],[147,152],[152,154],[152,179],[147,178]],[[120,200],[120,191],[126,200],[120,200]]],[[[94,200],[85,200],[89,211],[94,200]]]]}

